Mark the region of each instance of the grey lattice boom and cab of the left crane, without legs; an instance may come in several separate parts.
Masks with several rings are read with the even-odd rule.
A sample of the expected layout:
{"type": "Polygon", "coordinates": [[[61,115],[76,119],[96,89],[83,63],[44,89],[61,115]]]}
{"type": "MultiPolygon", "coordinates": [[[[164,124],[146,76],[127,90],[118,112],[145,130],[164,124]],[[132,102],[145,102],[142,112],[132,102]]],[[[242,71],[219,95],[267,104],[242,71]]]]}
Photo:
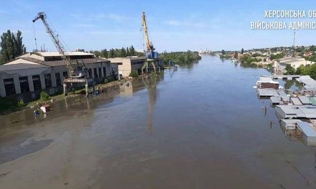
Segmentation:
{"type": "Polygon", "coordinates": [[[69,54],[67,54],[67,51],[63,44],[59,41],[58,34],[56,34],[49,23],[46,20],[46,14],[44,12],[40,12],[36,15],[36,17],[33,19],[33,22],[36,20],[41,19],[45,28],[46,32],[50,35],[57,51],[59,52],[61,58],[66,63],[66,68],[68,69],[70,73],[71,78],[80,78],[85,77],[87,75],[86,68],[83,62],[80,62],[78,60],[71,60],[69,54]]]}

